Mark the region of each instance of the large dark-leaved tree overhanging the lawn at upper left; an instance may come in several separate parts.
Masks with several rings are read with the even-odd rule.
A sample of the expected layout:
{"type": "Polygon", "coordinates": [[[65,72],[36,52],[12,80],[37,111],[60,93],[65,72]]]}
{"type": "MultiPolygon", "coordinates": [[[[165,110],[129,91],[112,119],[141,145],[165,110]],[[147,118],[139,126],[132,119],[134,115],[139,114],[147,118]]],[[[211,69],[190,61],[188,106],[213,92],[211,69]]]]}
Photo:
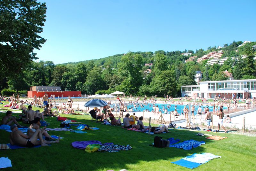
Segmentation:
{"type": "Polygon", "coordinates": [[[0,1],[0,65],[1,75],[18,77],[36,58],[45,39],[43,32],[46,5],[36,0],[0,1]]]}

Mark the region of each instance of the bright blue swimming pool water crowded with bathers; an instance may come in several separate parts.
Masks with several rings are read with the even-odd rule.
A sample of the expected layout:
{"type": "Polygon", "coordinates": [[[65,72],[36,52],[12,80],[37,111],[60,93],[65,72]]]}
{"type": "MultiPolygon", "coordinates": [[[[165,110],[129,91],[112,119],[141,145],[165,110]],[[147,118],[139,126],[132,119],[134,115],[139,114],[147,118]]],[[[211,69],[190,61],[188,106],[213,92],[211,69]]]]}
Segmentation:
{"type": "MultiPolygon", "coordinates": [[[[149,112],[152,112],[153,110],[153,105],[152,103],[148,103],[148,105],[144,105],[142,104],[142,107],[141,106],[138,106],[138,104],[135,104],[136,107],[134,107],[133,104],[131,103],[126,103],[126,106],[127,108],[132,108],[132,112],[143,112],[143,110],[149,110],[149,112]]],[[[183,113],[183,109],[184,109],[184,106],[187,106],[188,108],[188,105],[176,105],[176,104],[155,104],[155,106],[158,105],[159,107],[159,112],[160,110],[162,109],[162,113],[164,113],[164,108],[167,108],[167,111],[168,113],[170,114],[170,112],[174,111],[175,108],[177,109],[177,112],[178,113],[183,113]]],[[[192,105],[191,105],[192,107],[192,105]]],[[[207,107],[207,106],[201,106],[201,108],[203,109],[204,111],[204,107],[207,107]]],[[[199,106],[196,106],[195,105],[195,114],[197,113],[197,109],[199,108],[199,106]]],[[[213,112],[213,106],[208,106],[209,108],[209,111],[210,112],[213,112]]],[[[223,107],[223,109],[226,109],[227,107],[223,107]]]]}

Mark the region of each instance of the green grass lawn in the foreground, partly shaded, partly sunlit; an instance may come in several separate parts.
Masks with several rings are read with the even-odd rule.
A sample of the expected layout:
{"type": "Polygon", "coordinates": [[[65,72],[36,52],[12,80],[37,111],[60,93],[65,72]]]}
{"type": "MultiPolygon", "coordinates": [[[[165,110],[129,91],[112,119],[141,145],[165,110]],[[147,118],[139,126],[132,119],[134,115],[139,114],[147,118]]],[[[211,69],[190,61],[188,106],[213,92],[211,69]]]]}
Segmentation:
{"type": "MultiPolygon", "coordinates": [[[[33,107],[33,109],[36,110],[37,108],[33,107]]],[[[4,115],[5,113],[0,113],[0,119],[4,115]]],[[[13,113],[13,115],[18,114],[13,113]]],[[[196,136],[197,132],[194,131],[171,129],[171,133],[161,134],[160,136],[166,139],[170,137],[178,138],[181,142],[190,139],[203,140],[206,144],[189,151],[178,148],[156,148],[149,146],[149,144],[153,143],[155,135],[127,131],[119,126],[108,126],[92,122],[89,115],[61,114],[61,116],[98,127],[100,130],[86,130],[87,134],[48,131],[50,135],[61,136],[64,139],[60,140],[60,144],[52,144],[48,147],[1,150],[0,157],[8,157],[12,161],[12,167],[2,170],[190,170],[171,162],[194,153],[203,152],[220,155],[222,158],[213,159],[195,170],[256,170],[255,137],[229,133],[210,133],[228,137],[227,139],[214,141],[202,136],[196,136]],[[130,144],[132,149],[112,153],[87,153],[71,146],[74,141],[88,140],[98,140],[101,143],[112,142],[119,145],[130,144]]],[[[56,117],[46,119],[46,121],[51,123],[48,128],[60,128],[60,122],[56,120],[56,117]]],[[[76,127],[72,126],[71,128],[75,129],[76,127]]],[[[0,130],[0,143],[9,143],[9,135],[9,132],[0,130]]]]}

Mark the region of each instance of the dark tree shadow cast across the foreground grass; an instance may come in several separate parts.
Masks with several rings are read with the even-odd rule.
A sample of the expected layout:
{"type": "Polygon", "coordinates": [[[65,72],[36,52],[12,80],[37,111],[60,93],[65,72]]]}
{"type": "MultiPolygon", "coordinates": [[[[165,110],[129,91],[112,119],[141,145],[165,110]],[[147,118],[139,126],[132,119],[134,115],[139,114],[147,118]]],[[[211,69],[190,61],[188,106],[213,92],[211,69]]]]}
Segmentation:
{"type": "MultiPolygon", "coordinates": [[[[62,115],[63,117],[68,117],[62,115]]],[[[69,118],[69,117],[68,117],[69,118]]],[[[77,134],[64,131],[48,131],[50,135],[62,136],[60,144],[52,144],[50,147],[24,148],[17,150],[1,151],[3,157],[12,160],[12,168],[4,170],[167,170],[170,167],[184,169],[183,167],[171,164],[193,153],[205,152],[207,146],[214,140],[208,140],[204,136],[196,136],[197,132],[172,129],[171,133],[148,135],[136,131],[128,131],[118,126],[102,125],[84,119],[83,116],[70,116],[73,120],[81,121],[84,124],[100,128],[100,130],[85,130],[86,134],[77,134]],[[163,139],[173,137],[185,140],[205,141],[206,144],[183,150],[178,148],[156,148],[149,146],[154,142],[155,136],[163,139]],[[98,140],[101,143],[114,143],[119,145],[130,144],[131,150],[119,152],[93,152],[86,153],[85,150],[75,149],[71,146],[74,141],[98,140]]],[[[88,117],[86,117],[88,118],[88,117]]],[[[51,122],[49,128],[60,128],[60,122],[56,118],[48,119],[51,122]]],[[[48,121],[47,120],[47,121],[48,121]]],[[[76,130],[76,126],[72,126],[76,130]]],[[[4,136],[0,143],[9,143],[8,132],[0,130],[0,136],[4,136]]],[[[218,154],[215,154],[218,155],[218,154]]]]}

